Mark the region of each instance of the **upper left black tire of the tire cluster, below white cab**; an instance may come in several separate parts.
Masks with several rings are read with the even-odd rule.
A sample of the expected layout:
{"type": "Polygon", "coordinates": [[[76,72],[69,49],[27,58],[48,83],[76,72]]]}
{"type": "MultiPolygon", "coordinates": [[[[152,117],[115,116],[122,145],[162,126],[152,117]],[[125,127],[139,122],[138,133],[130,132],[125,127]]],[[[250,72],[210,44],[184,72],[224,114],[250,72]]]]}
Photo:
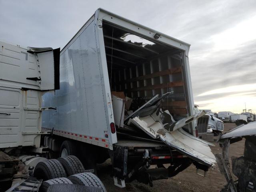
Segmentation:
{"type": "Polygon", "coordinates": [[[66,176],[64,167],[56,159],[39,162],[34,170],[34,177],[44,181],[66,176]]]}

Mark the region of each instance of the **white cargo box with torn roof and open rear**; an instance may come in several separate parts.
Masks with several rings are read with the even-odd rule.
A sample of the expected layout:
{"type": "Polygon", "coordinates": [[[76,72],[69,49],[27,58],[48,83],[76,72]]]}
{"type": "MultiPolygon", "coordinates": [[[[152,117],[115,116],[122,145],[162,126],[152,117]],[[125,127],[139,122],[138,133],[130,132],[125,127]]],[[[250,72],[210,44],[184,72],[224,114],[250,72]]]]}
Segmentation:
{"type": "MultiPolygon", "coordinates": [[[[60,53],[60,90],[44,94],[43,127],[54,134],[112,149],[118,142],[111,91],[133,99],[131,110],[156,94],[175,120],[193,114],[190,45],[102,9],[60,53]]],[[[195,135],[194,123],[186,131],[195,135]]]]}

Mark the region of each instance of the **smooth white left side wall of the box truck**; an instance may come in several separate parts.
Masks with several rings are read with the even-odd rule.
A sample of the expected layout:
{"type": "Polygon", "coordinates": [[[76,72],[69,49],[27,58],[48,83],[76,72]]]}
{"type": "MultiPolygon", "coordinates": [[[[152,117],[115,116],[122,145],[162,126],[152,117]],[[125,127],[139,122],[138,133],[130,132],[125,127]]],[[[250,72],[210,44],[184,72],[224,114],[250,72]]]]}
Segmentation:
{"type": "MultiPolygon", "coordinates": [[[[106,82],[108,76],[104,77],[102,72],[97,38],[94,20],[90,20],[62,50],[60,90],[56,90],[55,94],[44,94],[44,106],[56,106],[57,112],[43,112],[47,118],[43,127],[103,138],[111,144],[111,138],[106,136],[106,133],[110,134],[110,122],[104,89],[106,84],[109,87],[109,82],[106,82]]],[[[105,73],[108,74],[107,71],[105,73]]]]}

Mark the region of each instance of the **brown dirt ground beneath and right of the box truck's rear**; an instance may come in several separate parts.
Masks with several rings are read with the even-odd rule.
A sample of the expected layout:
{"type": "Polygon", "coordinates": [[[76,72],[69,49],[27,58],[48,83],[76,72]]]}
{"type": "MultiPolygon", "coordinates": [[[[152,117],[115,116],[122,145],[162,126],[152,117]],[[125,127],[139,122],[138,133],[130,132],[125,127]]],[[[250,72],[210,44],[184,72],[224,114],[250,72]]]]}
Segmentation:
{"type": "MultiPolygon", "coordinates": [[[[236,127],[234,123],[225,123],[224,132],[236,127]]],[[[215,146],[212,146],[212,152],[214,154],[221,153],[220,146],[213,142],[215,146]]],[[[244,152],[244,140],[236,142],[230,145],[230,157],[242,156],[244,152]]],[[[220,174],[218,165],[215,168],[210,168],[206,177],[196,174],[196,168],[191,165],[189,168],[180,172],[177,176],[169,178],[167,180],[157,180],[153,182],[153,187],[149,185],[133,181],[126,184],[126,188],[118,188],[114,186],[113,177],[111,173],[110,161],[100,165],[98,170],[98,176],[106,186],[108,192],[219,192],[226,184],[226,180],[222,174],[220,174]]]]}

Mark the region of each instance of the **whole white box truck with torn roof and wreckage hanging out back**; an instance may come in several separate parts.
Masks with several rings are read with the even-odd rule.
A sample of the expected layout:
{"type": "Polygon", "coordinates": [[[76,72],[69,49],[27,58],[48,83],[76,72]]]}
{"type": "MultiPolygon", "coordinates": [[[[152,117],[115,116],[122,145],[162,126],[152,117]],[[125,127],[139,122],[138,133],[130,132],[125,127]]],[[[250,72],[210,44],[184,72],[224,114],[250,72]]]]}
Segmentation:
{"type": "Polygon", "coordinates": [[[43,113],[42,126],[62,142],[60,156],[78,155],[88,171],[110,157],[120,187],[134,179],[152,185],[152,180],[175,176],[192,163],[207,171],[215,158],[210,143],[196,138],[194,120],[204,113],[192,116],[189,48],[96,10],[60,52],[60,90],[43,96],[44,106],[57,108],[43,113]],[[113,111],[124,107],[121,101],[114,106],[122,108],[113,110],[112,91],[132,99],[133,113],[116,125],[120,121],[113,111]],[[170,127],[163,133],[165,118],[170,127]]]}

